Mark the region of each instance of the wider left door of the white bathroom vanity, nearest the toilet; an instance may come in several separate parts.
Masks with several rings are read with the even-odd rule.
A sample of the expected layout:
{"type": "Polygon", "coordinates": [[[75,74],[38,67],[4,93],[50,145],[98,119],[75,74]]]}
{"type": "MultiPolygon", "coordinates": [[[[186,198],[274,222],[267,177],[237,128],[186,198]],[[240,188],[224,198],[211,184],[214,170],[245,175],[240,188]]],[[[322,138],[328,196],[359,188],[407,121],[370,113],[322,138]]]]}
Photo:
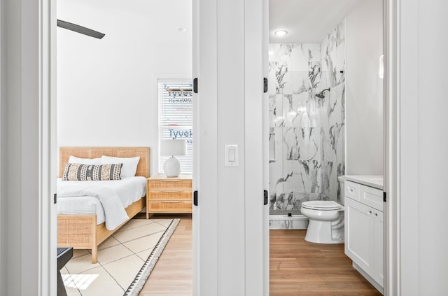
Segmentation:
{"type": "Polygon", "coordinates": [[[367,274],[374,273],[374,209],[345,199],[345,254],[367,274]]]}

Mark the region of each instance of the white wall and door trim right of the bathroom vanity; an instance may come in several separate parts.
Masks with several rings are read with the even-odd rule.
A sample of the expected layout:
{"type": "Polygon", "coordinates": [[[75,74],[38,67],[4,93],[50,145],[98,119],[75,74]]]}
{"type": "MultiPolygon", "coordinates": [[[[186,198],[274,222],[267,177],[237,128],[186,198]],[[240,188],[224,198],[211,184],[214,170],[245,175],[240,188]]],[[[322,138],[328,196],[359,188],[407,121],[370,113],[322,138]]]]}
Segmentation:
{"type": "Polygon", "coordinates": [[[386,1],[388,295],[447,295],[445,0],[386,1]]]}

